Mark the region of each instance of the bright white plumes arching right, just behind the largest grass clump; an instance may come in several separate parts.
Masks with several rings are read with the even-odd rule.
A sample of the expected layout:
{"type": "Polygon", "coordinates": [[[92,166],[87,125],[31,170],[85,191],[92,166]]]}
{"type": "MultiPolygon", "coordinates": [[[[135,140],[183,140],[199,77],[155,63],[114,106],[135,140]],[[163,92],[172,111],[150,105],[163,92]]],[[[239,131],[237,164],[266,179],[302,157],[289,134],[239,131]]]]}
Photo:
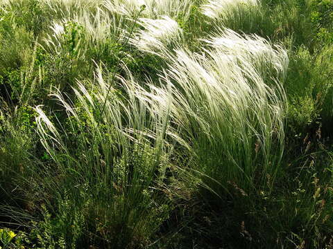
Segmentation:
{"type": "Polygon", "coordinates": [[[258,35],[239,35],[228,28],[219,29],[208,39],[203,39],[210,48],[220,50],[225,55],[241,58],[240,62],[250,62],[263,77],[274,77],[284,81],[289,63],[287,51],[280,45],[272,46],[258,35]]]}

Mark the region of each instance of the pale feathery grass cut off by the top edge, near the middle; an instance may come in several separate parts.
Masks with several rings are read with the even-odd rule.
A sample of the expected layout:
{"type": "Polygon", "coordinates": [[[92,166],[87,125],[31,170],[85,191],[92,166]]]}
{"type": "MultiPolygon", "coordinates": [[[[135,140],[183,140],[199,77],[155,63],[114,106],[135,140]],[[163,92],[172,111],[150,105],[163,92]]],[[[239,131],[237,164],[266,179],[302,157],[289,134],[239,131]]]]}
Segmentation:
{"type": "Polygon", "coordinates": [[[193,2],[192,0],[106,0],[104,5],[112,12],[129,17],[144,6],[143,15],[148,18],[167,15],[174,19],[177,17],[187,19],[193,2]]]}

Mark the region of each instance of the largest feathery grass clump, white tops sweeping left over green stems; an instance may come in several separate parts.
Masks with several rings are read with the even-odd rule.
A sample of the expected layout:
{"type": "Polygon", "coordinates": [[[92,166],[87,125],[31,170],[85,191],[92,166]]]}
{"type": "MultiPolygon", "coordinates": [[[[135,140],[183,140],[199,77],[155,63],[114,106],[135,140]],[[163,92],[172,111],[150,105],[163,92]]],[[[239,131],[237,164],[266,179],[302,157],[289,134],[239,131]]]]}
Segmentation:
{"type": "Polygon", "coordinates": [[[275,176],[284,149],[286,99],[280,83],[268,86],[241,50],[175,52],[164,73],[173,85],[171,120],[191,148],[203,183],[218,193],[216,181],[248,189],[257,174],[275,176]]]}

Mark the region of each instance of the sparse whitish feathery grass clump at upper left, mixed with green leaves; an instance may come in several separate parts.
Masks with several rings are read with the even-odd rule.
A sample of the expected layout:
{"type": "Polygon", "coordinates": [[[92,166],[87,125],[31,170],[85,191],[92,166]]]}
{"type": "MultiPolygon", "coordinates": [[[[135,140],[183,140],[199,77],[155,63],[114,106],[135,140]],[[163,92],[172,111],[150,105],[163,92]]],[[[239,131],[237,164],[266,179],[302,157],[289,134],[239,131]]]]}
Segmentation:
{"type": "Polygon", "coordinates": [[[85,61],[114,62],[126,45],[129,26],[133,21],[108,10],[96,8],[94,12],[82,10],[71,18],[53,21],[51,34],[44,39],[44,48],[56,55],[85,61]],[[126,36],[127,35],[127,36],[126,36]]]}

